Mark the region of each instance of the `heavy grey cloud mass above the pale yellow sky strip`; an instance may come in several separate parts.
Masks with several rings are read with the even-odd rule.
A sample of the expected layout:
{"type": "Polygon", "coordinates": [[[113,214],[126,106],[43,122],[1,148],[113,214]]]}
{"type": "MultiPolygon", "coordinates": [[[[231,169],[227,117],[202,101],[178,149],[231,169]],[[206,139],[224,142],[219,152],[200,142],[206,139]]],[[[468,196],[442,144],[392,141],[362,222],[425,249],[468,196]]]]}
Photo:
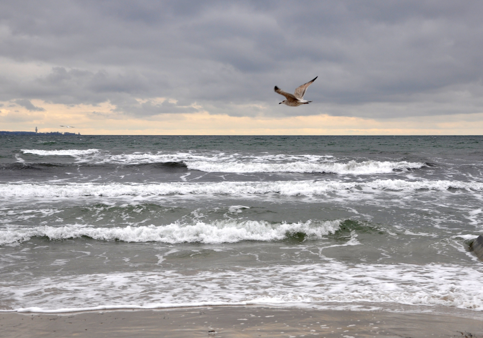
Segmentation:
{"type": "Polygon", "coordinates": [[[140,117],[194,112],[188,106],[195,102],[236,116],[393,117],[324,111],[323,104],[444,103],[465,92],[475,102],[467,112],[481,112],[482,46],[482,1],[6,0],[3,63],[46,70],[1,72],[0,99],[110,101],[140,117]],[[293,91],[315,76],[306,93],[312,104],[278,105],[275,85],[293,91]],[[178,103],[155,104],[154,97],[178,103]],[[272,108],[230,108],[244,104],[272,108]]]}

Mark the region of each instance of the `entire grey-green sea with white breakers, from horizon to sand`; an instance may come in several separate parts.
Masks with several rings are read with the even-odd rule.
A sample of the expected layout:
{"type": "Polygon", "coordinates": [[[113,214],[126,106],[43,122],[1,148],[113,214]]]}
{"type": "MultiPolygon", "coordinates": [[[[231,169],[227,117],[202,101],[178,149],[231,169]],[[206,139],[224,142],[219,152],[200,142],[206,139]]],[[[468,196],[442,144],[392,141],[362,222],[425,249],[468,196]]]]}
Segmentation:
{"type": "Polygon", "coordinates": [[[483,311],[483,136],[0,135],[0,310],[483,311]]]}

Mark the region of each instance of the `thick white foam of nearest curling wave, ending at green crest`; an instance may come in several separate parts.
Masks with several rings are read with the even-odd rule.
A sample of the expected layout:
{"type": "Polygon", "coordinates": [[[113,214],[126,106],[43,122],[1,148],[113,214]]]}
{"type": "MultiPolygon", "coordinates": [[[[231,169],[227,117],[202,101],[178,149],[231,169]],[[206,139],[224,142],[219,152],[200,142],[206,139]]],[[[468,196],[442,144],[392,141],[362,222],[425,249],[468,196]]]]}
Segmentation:
{"type": "Polygon", "coordinates": [[[34,228],[10,228],[0,231],[0,245],[28,241],[31,237],[46,236],[50,240],[87,236],[105,241],[162,242],[162,243],[233,243],[239,241],[272,241],[284,239],[287,234],[302,232],[313,238],[334,234],[341,221],[306,221],[298,223],[271,223],[268,221],[223,220],[194,224],[127,226],[125,228],[65,225],[34,228]]]}

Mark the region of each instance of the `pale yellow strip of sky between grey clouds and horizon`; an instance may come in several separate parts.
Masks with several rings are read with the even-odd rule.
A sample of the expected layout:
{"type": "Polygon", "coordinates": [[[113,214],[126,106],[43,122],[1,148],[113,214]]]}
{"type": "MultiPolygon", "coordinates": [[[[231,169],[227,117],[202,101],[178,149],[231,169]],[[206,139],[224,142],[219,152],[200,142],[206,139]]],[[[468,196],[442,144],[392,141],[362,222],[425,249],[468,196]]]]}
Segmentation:
{"type": "MultiPolygon", "coordinates": [[[[163,99],[158,101],[162,102],[163,99]]],[[[70,131],[80,132],[83,135],[481,135],[483,133],[483,113],[378,119],[327,114],[298,117],[263,115],[233,117],[227,114],[210,114],[200,109],[197,113],[134,117],[116,112],[116,106],[108,102],[97,106],[85,104],[69,106],[41,100],[31,102],[35,106],[42,107],[44,111],[28,111],[12,102],[2,102],[0,130],[34,131],[37,127],[40,132],[70,131]],[[67,129],[60,125],[76,128],[67,129]]],[[[354,106],[348,109],[376,108],[354,106]]]]}

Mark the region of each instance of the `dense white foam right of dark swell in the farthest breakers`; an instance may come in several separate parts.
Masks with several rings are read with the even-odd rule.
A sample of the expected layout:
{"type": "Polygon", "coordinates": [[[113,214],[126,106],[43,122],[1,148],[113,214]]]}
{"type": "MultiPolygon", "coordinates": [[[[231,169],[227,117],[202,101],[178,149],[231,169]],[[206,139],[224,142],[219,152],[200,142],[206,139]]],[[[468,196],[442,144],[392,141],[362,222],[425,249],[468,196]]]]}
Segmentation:
{"type": "Polygon", "coordinates": [[[390,161],[349,161],[347,163],[294,161],[289,163],[260,163],[260,162],[185,162],[188,169],[206,172],[327,172],[334,174],[385,174],[395,169],[406,170],[421,168],[421,162],[390,162],[390,161]]]}

